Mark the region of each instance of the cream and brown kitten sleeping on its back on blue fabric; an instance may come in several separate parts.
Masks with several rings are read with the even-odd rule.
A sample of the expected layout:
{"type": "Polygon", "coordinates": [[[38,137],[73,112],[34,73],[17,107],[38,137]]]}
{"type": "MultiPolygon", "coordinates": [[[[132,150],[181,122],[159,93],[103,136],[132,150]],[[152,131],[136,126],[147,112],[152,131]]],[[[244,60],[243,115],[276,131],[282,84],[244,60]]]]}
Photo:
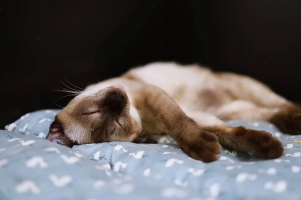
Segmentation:
{"type": "Polygon", "coordinates": [[[217,160],[221,145],[264,158],[282,155],[281,142],[263,130],[223,120],[268,120],[301,134],[301,108],[248,76],[198,65],[154,62],[86,87],[60,111],[47,139],[62,145],[148,141],[167,133],[189,156],[217,160]]]}

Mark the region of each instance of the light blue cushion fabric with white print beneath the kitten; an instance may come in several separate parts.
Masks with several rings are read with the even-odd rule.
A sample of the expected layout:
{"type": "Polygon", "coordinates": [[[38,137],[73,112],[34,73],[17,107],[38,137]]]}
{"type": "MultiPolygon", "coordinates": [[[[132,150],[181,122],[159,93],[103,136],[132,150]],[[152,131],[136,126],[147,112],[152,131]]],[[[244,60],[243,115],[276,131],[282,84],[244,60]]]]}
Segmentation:
{"type": "Polygon", "coordinates": [[[6,126],[10,132],[0,131],[0,184],[6,188],[0,199],[301,199],[301,143],[295,142],[301,135],[283,134],[270,123],[227,122],[277,136],[285,147],[281,157],[262,161],[223,148],[219,160],[204,163],[168,135],[153,135],[158,144],[113,141],[71,149],[49,142],[58,111],[25,114],[6,126]]]}

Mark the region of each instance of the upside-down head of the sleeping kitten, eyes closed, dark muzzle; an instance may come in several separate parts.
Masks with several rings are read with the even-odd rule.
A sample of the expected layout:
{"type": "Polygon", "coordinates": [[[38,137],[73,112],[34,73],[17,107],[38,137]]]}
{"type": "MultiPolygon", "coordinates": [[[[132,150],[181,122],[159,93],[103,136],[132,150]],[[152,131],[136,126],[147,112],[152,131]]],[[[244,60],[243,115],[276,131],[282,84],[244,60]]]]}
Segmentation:
{"type": "Polygon", "coordinates": [[[106,141],[131,141],[141,126],[122,86],[85,91],[59,112],[47,139],[66,146],[106,141]]]}

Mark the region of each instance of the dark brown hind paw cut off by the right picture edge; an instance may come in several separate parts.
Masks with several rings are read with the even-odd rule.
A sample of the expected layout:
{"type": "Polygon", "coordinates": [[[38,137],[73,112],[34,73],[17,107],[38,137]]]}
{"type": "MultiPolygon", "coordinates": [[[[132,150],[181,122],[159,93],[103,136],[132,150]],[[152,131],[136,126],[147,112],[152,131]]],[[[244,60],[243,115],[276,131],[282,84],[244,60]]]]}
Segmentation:
{"type": "Polygon", "coordinates": [[[301,134],[301,108],[292,106],[276,113],[270,121],[288,134],[301,134]]]}

